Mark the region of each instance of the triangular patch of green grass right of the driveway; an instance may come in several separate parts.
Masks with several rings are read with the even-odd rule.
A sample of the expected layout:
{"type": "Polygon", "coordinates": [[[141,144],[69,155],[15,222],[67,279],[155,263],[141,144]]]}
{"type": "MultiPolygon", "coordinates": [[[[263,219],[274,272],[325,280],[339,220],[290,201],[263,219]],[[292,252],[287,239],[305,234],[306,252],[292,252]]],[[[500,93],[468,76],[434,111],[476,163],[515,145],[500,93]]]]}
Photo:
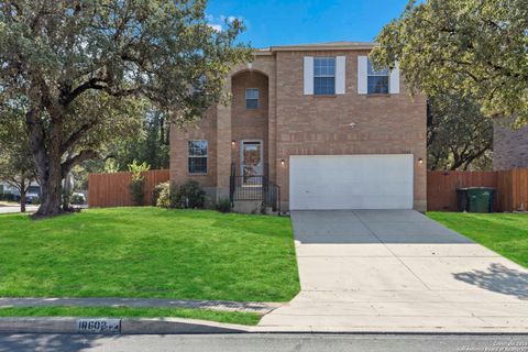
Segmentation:
{"type": "Polygon", "coordinates": [[[528,267],[528,215],[428,212],[427,216],[528,267]]]}

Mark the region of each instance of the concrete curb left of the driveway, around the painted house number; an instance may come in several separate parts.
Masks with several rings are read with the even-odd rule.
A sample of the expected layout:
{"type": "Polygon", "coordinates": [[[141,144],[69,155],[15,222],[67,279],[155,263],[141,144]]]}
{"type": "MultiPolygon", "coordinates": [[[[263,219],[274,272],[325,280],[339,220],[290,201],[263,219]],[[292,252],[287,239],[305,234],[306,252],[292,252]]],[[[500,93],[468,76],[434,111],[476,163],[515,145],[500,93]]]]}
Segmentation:
{"type": "MultiPolygon", "coordinates": [[[[103,318],[0,318],[0,333],[84,333],[84,334],[193,334],[245,333],[251,327],[178,318],[123,318],[118,332],[79,331],[80,319],[103,318]]],[[[116,320],[116,319],[110,319],[116,320]]]]}

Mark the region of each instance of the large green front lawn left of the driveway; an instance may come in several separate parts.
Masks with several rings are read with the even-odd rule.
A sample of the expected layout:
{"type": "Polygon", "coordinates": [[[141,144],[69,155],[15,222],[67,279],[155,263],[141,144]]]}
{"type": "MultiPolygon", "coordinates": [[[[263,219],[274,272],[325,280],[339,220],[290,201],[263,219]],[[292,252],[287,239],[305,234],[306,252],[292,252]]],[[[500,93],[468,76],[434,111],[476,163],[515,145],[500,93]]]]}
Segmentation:
{"type": "Polygon", "coordinates": [[[287,301],[288,218],[158,208],[0,216],[0,296],[287,301]]]}

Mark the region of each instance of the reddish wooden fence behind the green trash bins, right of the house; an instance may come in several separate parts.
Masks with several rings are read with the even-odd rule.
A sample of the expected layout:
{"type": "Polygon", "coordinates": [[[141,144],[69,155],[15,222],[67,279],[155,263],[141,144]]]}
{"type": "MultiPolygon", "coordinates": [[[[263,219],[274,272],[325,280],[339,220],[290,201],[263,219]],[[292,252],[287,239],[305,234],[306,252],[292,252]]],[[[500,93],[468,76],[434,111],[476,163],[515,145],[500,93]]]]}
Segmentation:
{"type": "Polygon", "coordinates": [[[495,211],[528,208],[528,168],[496,172],[428,172],[427,210],[457,211],[457,189],[493,187],[495,211]]]}

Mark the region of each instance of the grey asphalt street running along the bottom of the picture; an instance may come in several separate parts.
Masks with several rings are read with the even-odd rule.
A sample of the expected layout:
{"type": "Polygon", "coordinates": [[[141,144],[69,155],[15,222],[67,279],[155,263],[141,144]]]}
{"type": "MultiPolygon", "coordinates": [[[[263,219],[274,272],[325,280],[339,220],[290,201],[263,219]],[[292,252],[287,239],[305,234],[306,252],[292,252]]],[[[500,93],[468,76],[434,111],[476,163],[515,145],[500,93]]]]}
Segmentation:
{"type": "Polygon", "coordinates": [[[528,336],[429,334],[0,334],[3,351],[525,352],[528,336]]]}

